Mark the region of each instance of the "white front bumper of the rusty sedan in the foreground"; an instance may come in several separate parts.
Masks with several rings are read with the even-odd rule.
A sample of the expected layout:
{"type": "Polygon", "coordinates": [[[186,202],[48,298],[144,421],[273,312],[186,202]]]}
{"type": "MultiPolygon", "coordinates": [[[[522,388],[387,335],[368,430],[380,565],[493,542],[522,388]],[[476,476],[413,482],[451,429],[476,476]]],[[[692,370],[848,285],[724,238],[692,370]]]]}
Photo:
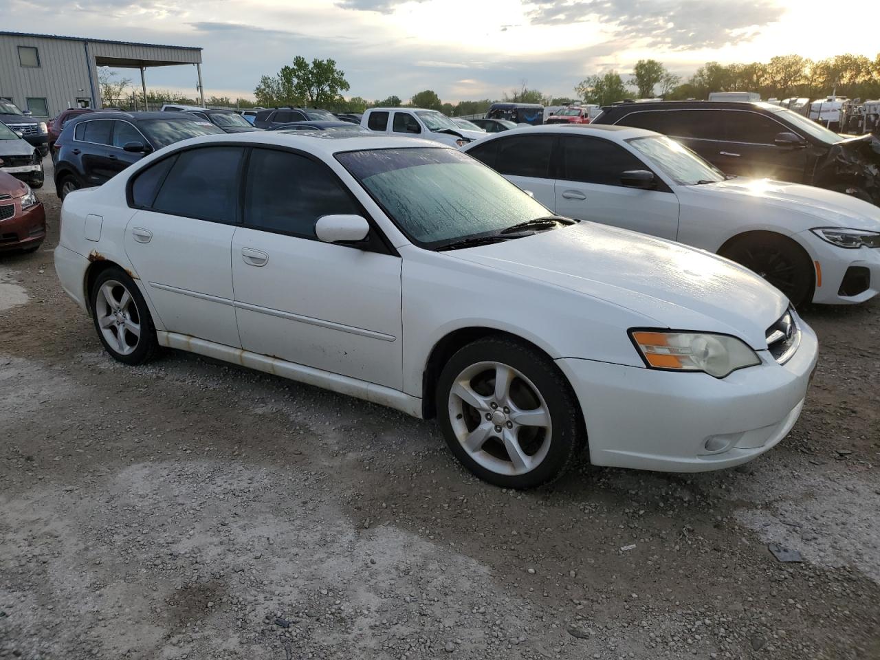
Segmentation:
{"type": "Polygon", "coordinates": [[[787,363],[760,351],[761,364],[726,378],[556,360],[581,404],[590,462],[706,472],[770,450],[795,425],[816,367],[816,334],[800,319],[798,326],[801,344],[787,363]]]}

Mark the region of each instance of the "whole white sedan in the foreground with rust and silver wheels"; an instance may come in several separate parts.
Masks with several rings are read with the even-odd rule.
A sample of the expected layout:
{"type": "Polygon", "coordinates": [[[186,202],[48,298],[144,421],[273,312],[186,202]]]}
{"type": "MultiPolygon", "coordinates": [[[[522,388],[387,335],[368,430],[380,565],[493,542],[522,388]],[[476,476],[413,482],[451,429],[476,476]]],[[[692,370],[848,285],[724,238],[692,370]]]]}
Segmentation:
{"type": "Polygon", "coordinates": [[[492,483],[736,466],[796,422],[817,341],[728,260],[553,216],[458,150],[246,133],[70,194],[62,287],[115,359],[179,348],[436,416],[492,483]]]}

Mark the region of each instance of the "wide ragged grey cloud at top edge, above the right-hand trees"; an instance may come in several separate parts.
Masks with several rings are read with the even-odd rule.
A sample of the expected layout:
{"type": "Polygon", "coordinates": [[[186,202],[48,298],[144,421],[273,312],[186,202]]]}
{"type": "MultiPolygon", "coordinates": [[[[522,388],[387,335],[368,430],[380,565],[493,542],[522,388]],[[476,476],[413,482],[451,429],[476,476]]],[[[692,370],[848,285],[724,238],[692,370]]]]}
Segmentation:
{"type": "Polygon", "coordinates": [[[671,49],[721,48],[752,40],[778,21],[777,0],[524,0],[532,25],[597,21],[616,37],[671,49]]]}

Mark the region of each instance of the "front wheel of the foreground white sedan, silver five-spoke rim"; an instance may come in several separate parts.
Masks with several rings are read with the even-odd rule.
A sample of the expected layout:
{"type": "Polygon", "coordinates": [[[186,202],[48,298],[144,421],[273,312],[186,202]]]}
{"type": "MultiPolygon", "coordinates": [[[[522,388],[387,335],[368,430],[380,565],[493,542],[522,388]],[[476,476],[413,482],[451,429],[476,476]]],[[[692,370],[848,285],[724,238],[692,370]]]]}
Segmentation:
{"type": "Polygon", "coordinates": [[[450,358],[436,410],[456,458],[502,488],[558,479],[585,442],[580,407],[561,371],[535,348],[506,338],[474,341],[450,358]],[[507,387],[496,392],[500,377],[507,387]]]}

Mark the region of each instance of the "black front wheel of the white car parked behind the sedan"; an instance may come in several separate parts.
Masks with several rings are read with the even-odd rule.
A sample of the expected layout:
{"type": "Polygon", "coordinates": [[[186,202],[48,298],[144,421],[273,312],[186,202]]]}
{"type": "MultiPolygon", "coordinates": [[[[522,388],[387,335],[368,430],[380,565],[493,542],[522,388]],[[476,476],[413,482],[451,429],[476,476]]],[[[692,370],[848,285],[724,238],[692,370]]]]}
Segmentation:
{"type": "Polygon", "coordinates": [[[722,256],[763,277],[796,307],[813,298],[816,271],[810,255],[790,238],[774,234],[741,238],[722,256]]]}

